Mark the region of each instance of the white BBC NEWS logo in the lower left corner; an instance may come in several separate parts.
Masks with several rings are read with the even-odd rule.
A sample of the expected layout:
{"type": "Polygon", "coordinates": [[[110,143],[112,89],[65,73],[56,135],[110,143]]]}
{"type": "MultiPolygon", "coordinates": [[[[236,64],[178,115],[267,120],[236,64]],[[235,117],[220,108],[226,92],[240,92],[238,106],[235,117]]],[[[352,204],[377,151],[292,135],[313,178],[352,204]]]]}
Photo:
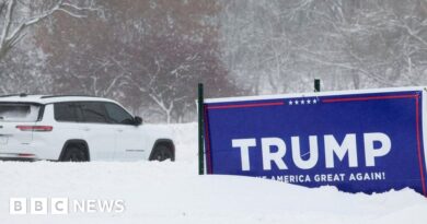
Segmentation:
{"type": "Polygon", "coordinates": [[[76,200],[68,198],[11,198],[10,214],[123,213],[124,200],[76,200]]]}

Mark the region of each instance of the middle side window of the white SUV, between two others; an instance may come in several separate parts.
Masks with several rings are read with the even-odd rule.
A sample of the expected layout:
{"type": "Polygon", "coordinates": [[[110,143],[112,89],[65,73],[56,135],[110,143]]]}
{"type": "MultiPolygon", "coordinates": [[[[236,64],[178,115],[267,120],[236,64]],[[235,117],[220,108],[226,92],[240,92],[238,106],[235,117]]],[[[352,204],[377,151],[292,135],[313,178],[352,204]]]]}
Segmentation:
{"type": "Polygon", "coordinates": [[[107,123],[107,115],[103,103],[101,102],[81,102],[84,122],[107,123]]]}

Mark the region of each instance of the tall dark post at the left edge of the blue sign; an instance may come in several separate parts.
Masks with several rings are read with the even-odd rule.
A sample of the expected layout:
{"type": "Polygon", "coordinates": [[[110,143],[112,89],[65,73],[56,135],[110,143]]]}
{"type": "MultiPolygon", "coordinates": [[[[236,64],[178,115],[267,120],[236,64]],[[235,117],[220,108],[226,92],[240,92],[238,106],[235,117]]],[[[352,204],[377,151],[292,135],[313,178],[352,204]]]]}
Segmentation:
{"type": "Polygon", "coordinates": [[[205,174],[204,150],[204,84],[198,83],[198,174],[205,174]]]}

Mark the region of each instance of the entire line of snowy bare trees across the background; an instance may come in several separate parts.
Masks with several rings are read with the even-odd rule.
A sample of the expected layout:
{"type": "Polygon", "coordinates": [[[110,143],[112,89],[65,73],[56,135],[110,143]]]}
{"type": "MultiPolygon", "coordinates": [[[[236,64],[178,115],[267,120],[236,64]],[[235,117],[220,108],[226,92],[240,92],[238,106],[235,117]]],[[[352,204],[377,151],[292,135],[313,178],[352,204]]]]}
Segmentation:
{"type": "Polygon", "coordinates": [[[208,97],[423,85],[423,0],[0,0],[0,93],[117,99],[151,122],[208,97]]]}

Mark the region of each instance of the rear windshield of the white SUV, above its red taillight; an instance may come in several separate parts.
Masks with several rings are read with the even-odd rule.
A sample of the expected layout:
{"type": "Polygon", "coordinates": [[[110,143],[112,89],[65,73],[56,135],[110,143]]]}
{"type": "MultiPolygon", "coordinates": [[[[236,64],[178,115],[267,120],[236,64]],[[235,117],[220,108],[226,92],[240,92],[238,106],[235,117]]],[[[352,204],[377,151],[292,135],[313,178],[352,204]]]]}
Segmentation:
{"type": "Polygon", "coordinates": [[[37,121],[41,105],[25,103],[0,103],[0,121],[37,121]]]}

